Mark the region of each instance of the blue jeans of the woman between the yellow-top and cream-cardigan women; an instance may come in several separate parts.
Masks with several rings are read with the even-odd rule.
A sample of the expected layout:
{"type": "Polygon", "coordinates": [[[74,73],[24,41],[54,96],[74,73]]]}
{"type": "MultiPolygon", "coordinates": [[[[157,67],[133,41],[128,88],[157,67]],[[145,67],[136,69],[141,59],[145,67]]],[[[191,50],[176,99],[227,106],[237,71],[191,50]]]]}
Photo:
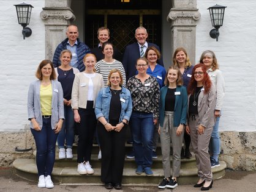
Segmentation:
{"type": "Polygon", "coordinates": [[[64,148],[64,141],[66,139],[67,148],[72,148],[73,146],[73,126],[75,121],[73,119],[73,110],[71,106],[64,105],[64,116],[65,120],[63,122],[61,131],[58,136],[58,146],[59,148],[64,148]]]}

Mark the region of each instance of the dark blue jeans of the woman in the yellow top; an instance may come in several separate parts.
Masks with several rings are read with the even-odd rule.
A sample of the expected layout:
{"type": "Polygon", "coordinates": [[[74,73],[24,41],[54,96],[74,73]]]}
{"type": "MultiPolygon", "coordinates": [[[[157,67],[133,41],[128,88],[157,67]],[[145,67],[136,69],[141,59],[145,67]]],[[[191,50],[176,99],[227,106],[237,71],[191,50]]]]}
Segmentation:
{"type": "Polygon", "coordinates": [[[38,176],[51,176],[55,164],[55,145],[58,134],[51,129],[51,118],[43,118],[43,126],[40,131],[31,129],[36,141],[36,164],[38,176]]]}

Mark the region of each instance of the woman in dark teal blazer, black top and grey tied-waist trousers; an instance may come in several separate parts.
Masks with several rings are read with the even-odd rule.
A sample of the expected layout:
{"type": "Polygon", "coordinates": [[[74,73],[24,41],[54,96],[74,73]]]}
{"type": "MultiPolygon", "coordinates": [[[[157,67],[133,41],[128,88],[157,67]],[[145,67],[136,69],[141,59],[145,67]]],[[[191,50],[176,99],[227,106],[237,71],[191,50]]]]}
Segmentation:
{"type": "Polygon", "coordinates": [[[159,134],[165,178],[159,188],[175,188],[181,166],[181,147],[187,117],[187,90],[179,68],[170,66],[165,77],[165,87],[160,90],[159,134]],[[170,144],[173,149],[172,177],[170,174],[170,144]]]}

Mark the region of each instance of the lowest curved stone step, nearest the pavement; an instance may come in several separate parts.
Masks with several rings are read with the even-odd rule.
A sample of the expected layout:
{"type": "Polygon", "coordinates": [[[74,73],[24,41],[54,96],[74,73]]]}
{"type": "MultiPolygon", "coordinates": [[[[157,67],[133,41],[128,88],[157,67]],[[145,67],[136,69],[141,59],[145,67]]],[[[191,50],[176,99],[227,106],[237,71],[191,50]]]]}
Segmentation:
{"type": "MultiPolygon", "coordinates": [[[[220,179],[225,175],[225,162],[220,162],[220,166],[213,168],[214,179],[220,179]]],[[[31,158],[18,158],[13,162],[17,176],[36,181],[37,168],[34,159],[31,158]]],[[[152,168],[153,176],[146,176],[144,173],[141,175],[135,174],[135,168],[124,168],[122,183],[124,184],[145,184],[145,185],[158,185],[164,177],[162,168],[152,168]]],[[[59,167],[55,166],[52,173],[53,182],[55,183],[75,183],[75,184],[102,184],[100,181],[100,168],[94,168],[92,175],[80,175],[77,172],[77,166],[59,167]]],[[[180,176],[178,178],[179,184],[192,184],[197,182],[197,168],[194,166],[190,168],[181,168],[180,176]]]]}

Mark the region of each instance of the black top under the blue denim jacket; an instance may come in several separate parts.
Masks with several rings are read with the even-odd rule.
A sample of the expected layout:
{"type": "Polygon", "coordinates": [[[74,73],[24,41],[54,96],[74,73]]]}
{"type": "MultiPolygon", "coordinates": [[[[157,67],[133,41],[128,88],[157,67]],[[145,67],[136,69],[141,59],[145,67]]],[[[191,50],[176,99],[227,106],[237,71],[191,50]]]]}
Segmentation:
{"type": "Polygon", "coordinates": [[[120,113],[121,113],[121,101],[120,101],[120,93],[122,90],[111,90],[111,100],[110,100],[110,113],[109,119],[110,121],[119,121],[120,113]]]}

